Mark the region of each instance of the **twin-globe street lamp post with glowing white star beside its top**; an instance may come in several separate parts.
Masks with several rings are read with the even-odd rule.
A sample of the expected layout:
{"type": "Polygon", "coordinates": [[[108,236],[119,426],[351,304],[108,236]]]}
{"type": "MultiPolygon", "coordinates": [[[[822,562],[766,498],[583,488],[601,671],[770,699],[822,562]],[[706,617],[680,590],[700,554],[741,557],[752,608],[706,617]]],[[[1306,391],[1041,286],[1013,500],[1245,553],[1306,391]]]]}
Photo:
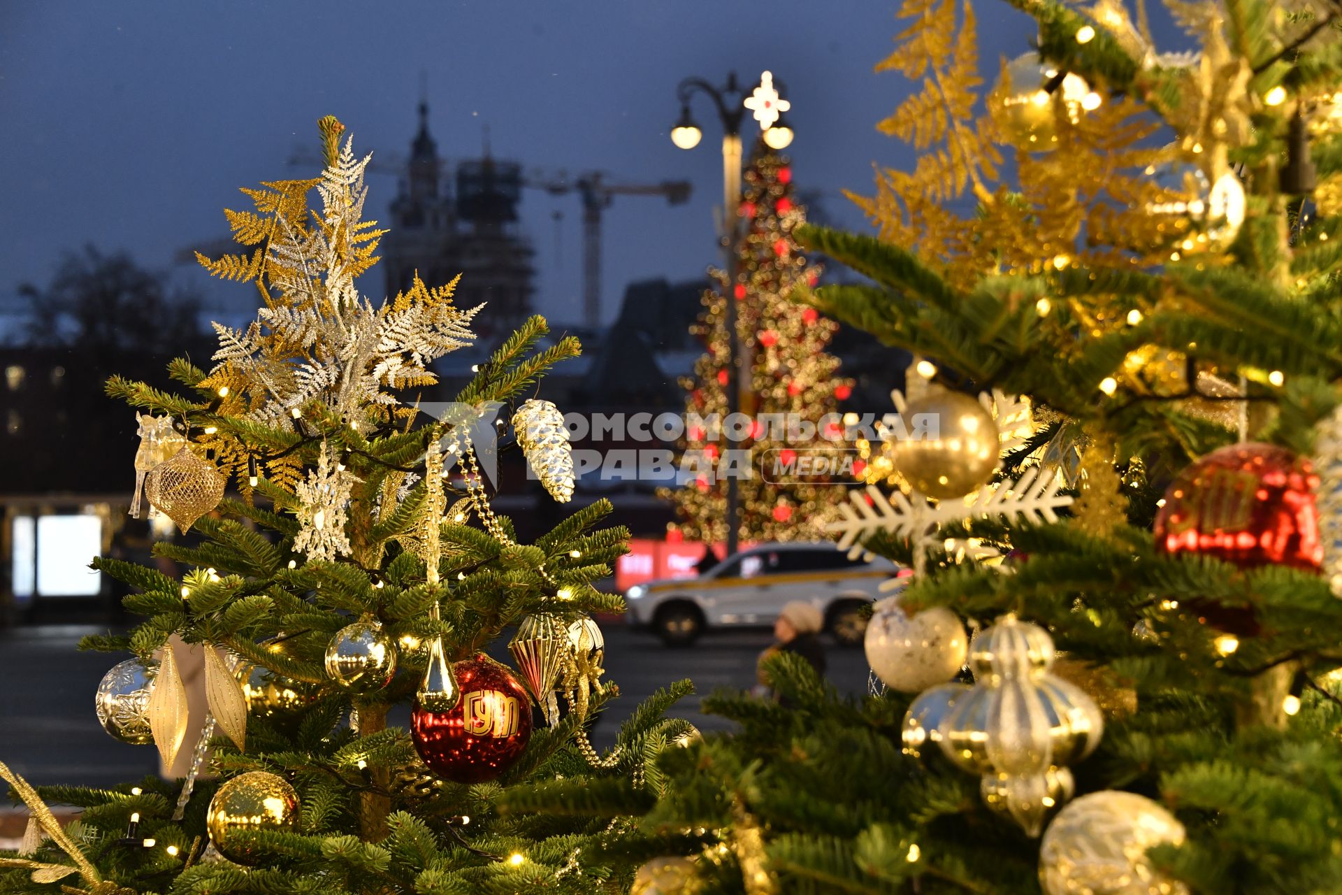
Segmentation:
{"type": "MultiPolygon", "coordinates": [[[[772,149],[782,149],[792,142],[792,127],[784,119],[790,103],[782,99],[781,82],[774,82],[770,72],[760,76],[760,83],[747,95],[737,86],[737,74],[727,75],[727,83],[715,87],[703,78],[686,78],[676,87],[680,101],[680,118],[671,127],[671,141],[680,149],[694,149],[703,138],[703,131],[690,115],[690,99],[695,93],[707,94],[722,121],[722,250],[723,272],[726,276],[726,325],[727,325],[727,415],[741,411],[741,337],[737,333],[737,205],[741,203],[741,119],[746,110],[754,113],[760,122],[764,140],[772,149]]],[[[741,527],[741,494],[735,476],[727,479],[727,556],[737,551],[741,527]]]]}

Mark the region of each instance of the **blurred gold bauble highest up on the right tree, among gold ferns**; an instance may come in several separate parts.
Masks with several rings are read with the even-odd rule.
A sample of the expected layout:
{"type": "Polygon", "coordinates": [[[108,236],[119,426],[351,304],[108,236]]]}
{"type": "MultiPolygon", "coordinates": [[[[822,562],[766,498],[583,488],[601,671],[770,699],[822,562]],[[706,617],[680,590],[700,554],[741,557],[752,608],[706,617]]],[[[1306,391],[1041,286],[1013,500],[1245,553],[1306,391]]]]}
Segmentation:
{"type": "Polygon", "coordinates": [[[988,107],[993,121],[1013,145],[1029,152],[1056,149],[1056,117],[1064,114],[1075,123],[1086,103],[1092,102],[1087,101],[1090,85],[1071,72],[1063,75],[1062,82],[1049,93],[1048,86],[1057,74],[1036,52],[1016,56],[1002,68],[988,95],[988,107]]]}

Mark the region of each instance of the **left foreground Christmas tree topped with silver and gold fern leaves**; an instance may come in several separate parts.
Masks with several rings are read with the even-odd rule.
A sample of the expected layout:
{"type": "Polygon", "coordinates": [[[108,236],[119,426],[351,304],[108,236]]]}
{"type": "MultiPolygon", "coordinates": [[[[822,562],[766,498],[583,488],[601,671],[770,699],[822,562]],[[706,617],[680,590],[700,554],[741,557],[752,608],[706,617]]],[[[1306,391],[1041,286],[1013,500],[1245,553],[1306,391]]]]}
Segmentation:
{"type": "MultiPolygon", "coordinates": [[[[173,362],[184,393],[107,384],[141,411],[134,511],[199,538],[157,546],[191,568],[180,581],[97,560],[146,620],[82,647],[133,656],[97,692],[107,733],[156,745],[168,766],[191,751],[189,774],[35,790],[0,765],[32,812],[23,848],[0,856],[3,891],[590,892],[623,890],[637,867],[603,845],[628,825],[509,801],[558,778],[656,789],[646,765],[692,734],[662,718],[682,684],[607,754],[586,738],[615,694],[589,615],[621,608],[592,586],[625,549],[624,530],[595,527],[609,506],[530,545],[490,507],[475,448],[497,432],[491,413],[578,344],[538,349],[546,326],[531,318],[446,411],[417,408],[431,362],[471,344],[487,311],[458,307],[451,283],[416,279],[380,307],[358,294],[382,231],[362,220],[368,158],[342,130],[321,122],[319,177],[243,191],[255,211],[227,212],[243,254],[201,258],[262,298],[247,329],[216,325],[215,368],[173,362]],[[486,655],[513,627],[517,671],[486,655]],[[187,726],[188,647],[204,653],[203,729],[187,726]],[[396,706],[412,708],[409,731],[388,726],[396,706]],[[83,810],[62,828],[47,802],[83,810]]],[[[557,416],[531,399],[511,424],[566,501],[557,416]]]]}

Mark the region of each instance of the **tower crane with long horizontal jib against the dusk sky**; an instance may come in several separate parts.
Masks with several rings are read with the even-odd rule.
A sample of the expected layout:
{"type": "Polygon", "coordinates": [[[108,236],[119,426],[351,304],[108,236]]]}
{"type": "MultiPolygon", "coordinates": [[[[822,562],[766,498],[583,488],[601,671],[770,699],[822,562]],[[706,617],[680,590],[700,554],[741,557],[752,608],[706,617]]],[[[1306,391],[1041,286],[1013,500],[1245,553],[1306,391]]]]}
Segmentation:
{"type": "MultiPolygon", "coordinates": [[[[289,164],[309,169],[325,166],[322,158],[305,150],[290,156],[289,164]]],[[[451,178],[455,164],[452,160],[439,160],[439,172],[451,178]]],[[[368,165],[370,173],[399,177],[405,176],[408,169],[408,161],[381,153],[368,165]]],[[[526,170],[522,185],[552,196],[577,193],[582,201],[582,319],[592,327],[601,322],[601,212],[611,207],[616,196],[664,196],[667,204],[680,205],[690,200],[691,191],[687,180],[664,180],[659,184],[608,182],[607,174],[599,170],[573,178],[566,170],[542,168],[526,170]]]]}

